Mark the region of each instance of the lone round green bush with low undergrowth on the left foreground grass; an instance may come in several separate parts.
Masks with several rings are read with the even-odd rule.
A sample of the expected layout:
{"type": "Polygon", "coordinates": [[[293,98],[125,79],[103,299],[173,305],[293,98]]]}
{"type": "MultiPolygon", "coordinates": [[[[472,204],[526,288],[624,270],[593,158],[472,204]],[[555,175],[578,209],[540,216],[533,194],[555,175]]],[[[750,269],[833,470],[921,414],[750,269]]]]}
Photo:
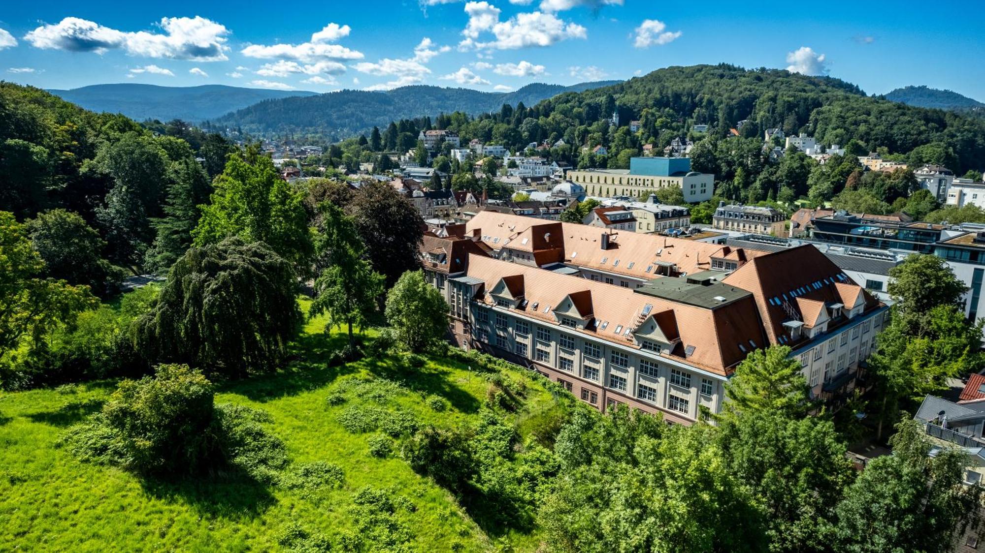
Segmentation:
{"type": "Polygon", "coordinates": [[[212,384],[186,365],[161,365],[154,377],[124,380],[99,413],[61,443],[82,461],[144,474],[193,474],[236,468],[273,483],[287,462],[284,443],[241,405],[214,405],[212,384]]]}

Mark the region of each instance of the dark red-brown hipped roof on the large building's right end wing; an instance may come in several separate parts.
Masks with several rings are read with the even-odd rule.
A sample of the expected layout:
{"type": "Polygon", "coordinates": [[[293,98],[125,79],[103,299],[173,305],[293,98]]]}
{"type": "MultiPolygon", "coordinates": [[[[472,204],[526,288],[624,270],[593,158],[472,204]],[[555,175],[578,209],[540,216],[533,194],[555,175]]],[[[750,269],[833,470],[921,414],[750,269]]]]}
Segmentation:
{"type": "Polygon", "coordinates": [[[753,292],[771,343],[785,343],[779,338],[786,336],[783,322],[791,319],[788,309],[799,311],[800,320],[809,322],[816,304],[795,301],[799,298],[844,303],[850,309],[844,298],[853,297],[857,289],[867,308],[881,305],[811,244],[755,257],[722,282],[753,292]],[[807,313],[802,306],[808,306],[807,313]]]}

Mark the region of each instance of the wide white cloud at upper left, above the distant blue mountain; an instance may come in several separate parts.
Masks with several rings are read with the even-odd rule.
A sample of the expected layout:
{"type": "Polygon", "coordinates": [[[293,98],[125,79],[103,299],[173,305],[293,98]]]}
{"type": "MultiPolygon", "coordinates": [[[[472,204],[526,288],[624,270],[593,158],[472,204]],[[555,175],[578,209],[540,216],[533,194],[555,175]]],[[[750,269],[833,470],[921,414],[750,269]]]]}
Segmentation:
{"type": "Polygon", "coordinates": [[[80,19],[65,18],[54,25],[42,25],[28,32],[25,39],[36,48],[96,52],[120,48],[133,56],[185,59],[194,61],[224,61],[225,26],[200,16],[194,18],[162,18],[158,24],[164,33],[124,32],[102,27],[80,19]]]}

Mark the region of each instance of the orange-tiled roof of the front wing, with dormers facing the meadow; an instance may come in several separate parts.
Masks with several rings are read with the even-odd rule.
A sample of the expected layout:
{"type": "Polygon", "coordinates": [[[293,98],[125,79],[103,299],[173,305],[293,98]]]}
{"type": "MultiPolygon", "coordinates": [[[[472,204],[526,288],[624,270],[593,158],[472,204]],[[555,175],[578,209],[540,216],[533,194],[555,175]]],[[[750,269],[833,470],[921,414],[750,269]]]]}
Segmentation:
{"type": "MultiPolygon", "coordinates": [[[[510,311],[523,313],[527,317],[552,325],[558,323],[551,309],[568,295],[588,291],[591,294],[593,318],[609,324],[605,330],[591,325],[588,330],[575,332],[629,347],[635,347],[635,341],[631,335],[625,337],[625,329],[635,329],[645,322],[647,318],[642,314],[646,306],[650,305],[650,312],[655,314],[653,316],[667,338],[681,340],[673,351],[661,355],[686,361],[716,374],[731,374],[733,367],[745,358],[746,353],[739,347],[740,344],[749,350],[751,342],[755,347],[762,347],[766,343],[751,295],[707,309],[580,276],[560,275],[536,267],[478,256],[470,258],[467,274],[485,280],[486,290],[493,289],[496,282],[504,276],[523,276],[524,299],[527,303],[510,311]],[[537,304],[536,310],[533,308],[534,304],[537,304]],[[617,328],[620,328],[618,334],[617,328]]],[[[492,303],[483,297],[478,299],[492,303]]]]}

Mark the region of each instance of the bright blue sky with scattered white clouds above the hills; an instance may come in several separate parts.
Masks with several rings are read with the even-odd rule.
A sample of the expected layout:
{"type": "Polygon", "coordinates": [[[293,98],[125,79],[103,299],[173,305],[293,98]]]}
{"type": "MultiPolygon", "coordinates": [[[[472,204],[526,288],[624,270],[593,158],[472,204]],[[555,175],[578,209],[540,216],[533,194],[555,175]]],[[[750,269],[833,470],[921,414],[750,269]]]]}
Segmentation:
{"type": "Polygon", "coordinates": [[[405,84],[515,90],[728,62],[985,101],[985,2],[656,0],[17,2],[0,79],[47,89],[224,84],[329,92],[405,84]]]}

